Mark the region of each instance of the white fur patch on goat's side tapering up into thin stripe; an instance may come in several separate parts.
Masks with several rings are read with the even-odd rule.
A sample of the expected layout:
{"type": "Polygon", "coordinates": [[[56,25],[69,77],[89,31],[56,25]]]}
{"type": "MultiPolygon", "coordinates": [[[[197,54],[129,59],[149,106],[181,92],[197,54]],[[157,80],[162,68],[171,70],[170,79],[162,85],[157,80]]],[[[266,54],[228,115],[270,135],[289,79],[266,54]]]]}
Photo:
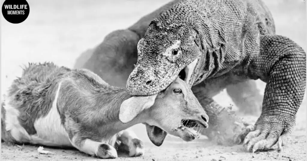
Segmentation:
{"type": "Polygon", "coordinates": [[[35,144],[51,146],[72,146],[68,133],[61,124],[60,114],[57,111],[57,100],[59,97],[61,82],[56,91],[56,96],[52,102],[52,108],[45,117],[37,119],[34,123],[36,134],[31,136],[31,142],[35,144]]]}

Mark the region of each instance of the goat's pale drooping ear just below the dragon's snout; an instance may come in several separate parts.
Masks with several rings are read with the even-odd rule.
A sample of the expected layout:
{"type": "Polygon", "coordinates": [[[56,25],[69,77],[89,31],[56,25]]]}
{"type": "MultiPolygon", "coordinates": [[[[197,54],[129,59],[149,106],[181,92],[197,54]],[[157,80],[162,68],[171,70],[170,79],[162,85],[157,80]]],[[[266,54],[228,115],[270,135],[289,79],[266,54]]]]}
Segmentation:
{"type": "Polygon", "coordinates": [[[119,109],[119,121],[127,123],[134,119],[144,109],[150,108],[155,99],[156,95],[151,96],[132,96],[122,102],[119,109]]]}

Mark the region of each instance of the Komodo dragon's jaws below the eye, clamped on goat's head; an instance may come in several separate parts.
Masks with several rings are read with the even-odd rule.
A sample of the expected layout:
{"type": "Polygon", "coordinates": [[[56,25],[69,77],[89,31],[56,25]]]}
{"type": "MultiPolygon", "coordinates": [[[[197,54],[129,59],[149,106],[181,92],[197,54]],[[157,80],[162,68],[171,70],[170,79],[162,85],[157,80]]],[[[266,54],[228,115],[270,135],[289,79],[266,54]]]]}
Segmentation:
{"type": "Polygon", "coordinates": [[[177,76],[186,81],[190,87],[192,87],[196,78],[194,69],[197,62],[198,59],[195,59],[192,63],[183,67],[176,67],[172,64],[169,64],[168,66],[157,65],[157,68],[138,65],[130,74],[126,88],[131,91],[132,95],[154,95],[166,89],[177,78],[177,76]],[[145,82],[141,82],[140,80],[145,80],[145,82]]]}

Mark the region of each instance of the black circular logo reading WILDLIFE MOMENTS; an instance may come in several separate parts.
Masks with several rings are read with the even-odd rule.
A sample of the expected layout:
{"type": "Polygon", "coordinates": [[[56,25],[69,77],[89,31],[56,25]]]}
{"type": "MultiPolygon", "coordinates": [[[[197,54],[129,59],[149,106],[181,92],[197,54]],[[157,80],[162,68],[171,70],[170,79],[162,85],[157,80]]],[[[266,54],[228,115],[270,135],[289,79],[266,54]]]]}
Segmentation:
{"type": "Polygon", "coordinates": [[[13,24],[19,24],[29,16],[30,7],[26,0],[6,0],[2,5],[2,15],[13,24]]]}

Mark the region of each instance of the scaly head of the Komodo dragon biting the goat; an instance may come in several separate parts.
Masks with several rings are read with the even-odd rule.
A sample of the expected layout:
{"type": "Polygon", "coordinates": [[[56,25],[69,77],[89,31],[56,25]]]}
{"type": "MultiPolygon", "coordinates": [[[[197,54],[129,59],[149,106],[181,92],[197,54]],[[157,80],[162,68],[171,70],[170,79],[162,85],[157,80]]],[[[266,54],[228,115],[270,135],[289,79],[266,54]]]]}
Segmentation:
{"type": "Polygon", "coordinates": [[[182,24],[172,26],[171,31],[167,25],[154,20],[139,40],[138,61],[126,85],[132,95],[157,94],[177,76],[192,87],[202,55],[196,32],[182,24]]]}

